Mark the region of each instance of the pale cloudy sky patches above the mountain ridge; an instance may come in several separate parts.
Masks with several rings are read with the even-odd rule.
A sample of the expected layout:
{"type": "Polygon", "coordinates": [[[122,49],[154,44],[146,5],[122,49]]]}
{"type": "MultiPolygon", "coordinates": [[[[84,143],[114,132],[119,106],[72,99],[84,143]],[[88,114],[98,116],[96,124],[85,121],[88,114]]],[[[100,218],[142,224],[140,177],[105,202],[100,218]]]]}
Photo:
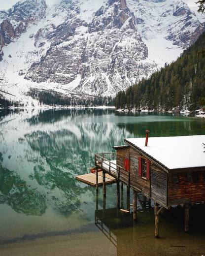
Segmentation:
{"type": "MultiPolygon", "coordinates": [[[[0,0],[0,10],[7,10],[10,7],[12,7],[13,4],[15,4],[18,0],[0,0]]],[[[59,3],[60,0],[46,0],[47,5],[53,5],[56,3],[59,3]]],[[[196,0],[184,0],[184,2],[186,2],[189,7],[191,7],[193,9],[196,10],[196,0]]]]}

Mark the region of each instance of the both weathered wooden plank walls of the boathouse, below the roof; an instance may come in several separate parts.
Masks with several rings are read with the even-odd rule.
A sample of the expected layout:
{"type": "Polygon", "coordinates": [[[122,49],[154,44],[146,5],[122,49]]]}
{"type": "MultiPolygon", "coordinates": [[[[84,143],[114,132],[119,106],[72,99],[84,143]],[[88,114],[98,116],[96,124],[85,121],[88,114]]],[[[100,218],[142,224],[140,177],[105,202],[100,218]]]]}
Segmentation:
{"type": "MultiPolygon", "coordinates": [[[[164,205],[178,205],[205,201],[205,170],[197,168],[186,169],[183,172],[167,173],[151,161],[150,180],[138,175],[138,158],[142,157],[137,149],[131,147],[117,149],[117,164],[124,167],[124,159],[130,159],[130,172],[120,170],[120,181],[129,185],[154,201],[164,205]],[[199,179],[189,180],[187,173],[198,173],[199,179]],[[178,177],[178,182],[173,179],[173,174],[178,177]]],[[[189,175],[190,176],[190,175],[189,175]]]]}

